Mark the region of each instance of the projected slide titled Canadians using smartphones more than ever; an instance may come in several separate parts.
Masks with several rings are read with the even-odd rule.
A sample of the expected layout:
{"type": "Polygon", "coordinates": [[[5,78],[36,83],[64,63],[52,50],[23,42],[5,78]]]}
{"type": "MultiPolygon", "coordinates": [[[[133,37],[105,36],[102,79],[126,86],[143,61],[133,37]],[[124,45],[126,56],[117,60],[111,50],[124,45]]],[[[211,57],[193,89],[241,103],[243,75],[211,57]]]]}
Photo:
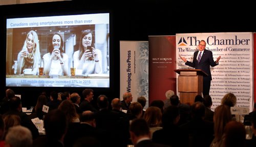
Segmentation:
{"type": "Polygon", "coordinates": [[[6,86],[110,87],[109,13],[6,23],[6,86]]]}

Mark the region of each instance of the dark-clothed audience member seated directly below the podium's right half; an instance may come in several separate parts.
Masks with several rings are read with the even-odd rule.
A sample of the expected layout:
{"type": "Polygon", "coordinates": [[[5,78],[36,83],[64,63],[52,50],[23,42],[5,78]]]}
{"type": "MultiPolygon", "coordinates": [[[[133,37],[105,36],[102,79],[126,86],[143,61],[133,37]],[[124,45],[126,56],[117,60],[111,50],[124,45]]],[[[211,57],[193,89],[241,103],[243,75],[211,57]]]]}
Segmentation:
{"type": "Polygon", "coordinates": [[[214,139],[214,123],[204,121],[204,113],[204,104],[195,102],[191,106],[192,120],[180,126],[189,135],[191,146],[209,146],[212,139],[214,139]]]}

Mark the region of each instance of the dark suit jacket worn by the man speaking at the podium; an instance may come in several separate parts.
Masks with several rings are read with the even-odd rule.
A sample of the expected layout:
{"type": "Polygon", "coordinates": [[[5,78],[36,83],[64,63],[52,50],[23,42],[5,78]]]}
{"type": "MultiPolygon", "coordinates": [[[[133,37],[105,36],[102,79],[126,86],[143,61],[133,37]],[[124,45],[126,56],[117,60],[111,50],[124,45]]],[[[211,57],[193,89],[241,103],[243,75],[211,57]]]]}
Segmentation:
{"type": "Polygon", "coordinates": [[[210,66],[211,67],[215,67],[218,64],[215,63],[214,58],[212,57],[212,52],[210,50],[204,49],[204,53],[201,56],[201,60],[198,63],[197,62],[197,54],[198,54],[199,50],[194,52],[194,58],[193,58],[193,63],[187,61],[185,63],[185,65],[188,65],[190,67],[194,67],[195,69],[201,69],[203,70],[205,73],[208,74],[207,77],[204,78],[208,78],[211,80],[211,73],[210,73],[210,66]]]}

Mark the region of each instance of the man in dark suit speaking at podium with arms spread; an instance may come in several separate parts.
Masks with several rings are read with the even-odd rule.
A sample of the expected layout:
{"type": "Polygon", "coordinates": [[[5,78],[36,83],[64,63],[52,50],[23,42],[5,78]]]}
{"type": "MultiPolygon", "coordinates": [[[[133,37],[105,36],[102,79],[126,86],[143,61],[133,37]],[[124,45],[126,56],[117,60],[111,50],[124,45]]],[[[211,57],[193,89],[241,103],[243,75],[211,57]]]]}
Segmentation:
{"type": "Polygon", "coordinates": [[[195,69],[201,69],[208,76],[203,76],[203,96],[209,95],[210,91],[210,81],[211,81],[211,73],[210,73],[210,66],[215,67],[219,65],[219,60],[221,56],[214,61],[212,57],[212,52],[210,50],[205,49],[206,42],[201,40],[198,48],[199,50],[194,52],[193,62],[189,62],[186,60],[185,57],[180,56],[181,60],[185,62],[185,65],[193,67],[195,69]]]}

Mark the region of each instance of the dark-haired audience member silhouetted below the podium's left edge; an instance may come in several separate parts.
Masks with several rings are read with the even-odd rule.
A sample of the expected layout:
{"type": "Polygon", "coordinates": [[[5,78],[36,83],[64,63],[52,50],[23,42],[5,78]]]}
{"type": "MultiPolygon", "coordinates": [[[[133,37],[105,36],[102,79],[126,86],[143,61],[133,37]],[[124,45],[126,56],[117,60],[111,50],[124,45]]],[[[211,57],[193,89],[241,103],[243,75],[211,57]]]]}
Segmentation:
{"type": "Polygon", "coordinates": [[[188,135],[178,127],[179,119],[180,108],[170,105],[164,109],[162,115],[163,129],[153,133],[153,142],[173,147],[188,146],[188,135]]]}

